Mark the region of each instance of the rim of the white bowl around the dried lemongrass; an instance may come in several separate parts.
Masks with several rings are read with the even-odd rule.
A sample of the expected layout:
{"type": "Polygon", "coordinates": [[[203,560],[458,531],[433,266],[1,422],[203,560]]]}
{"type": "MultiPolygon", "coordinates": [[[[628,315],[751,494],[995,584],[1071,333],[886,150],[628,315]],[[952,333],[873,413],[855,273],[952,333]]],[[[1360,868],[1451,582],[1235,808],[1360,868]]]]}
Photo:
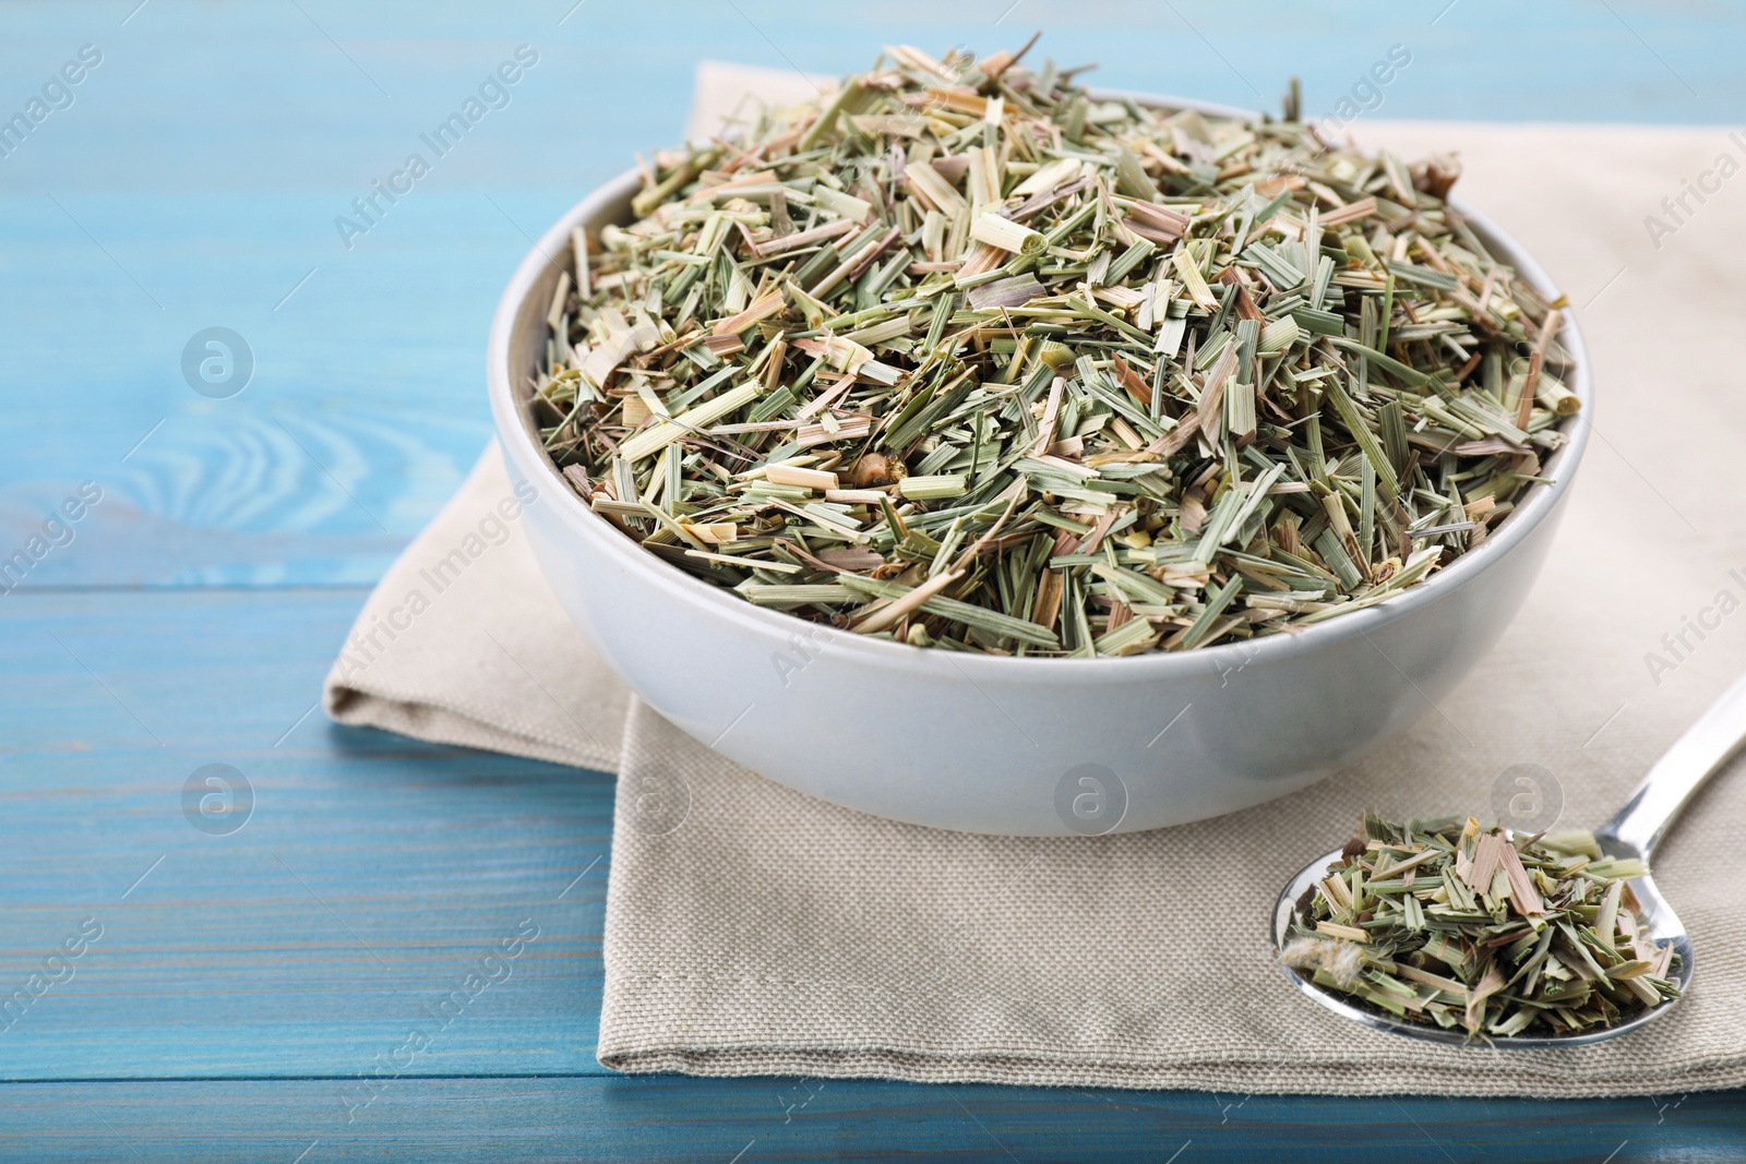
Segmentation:
{"type": "MultiPolygon", "coordinates": [[[[1102,99],[1126,98],[1166,110],[1196,110],[1217,117],[1261,120],[1261,113],[1254,110],[1191,98],[1112,89],[1093,89],[1091,96],[1102,99]]],[[[632,168],[615,178],[609,178],[583,195],[534,243],[522,262],[515,267],[515,272],[510,276],[510,281],[498,300],[485,353],[485,380],[498,440],[503,445],[505,455],[510,461],[533,457],[538,464],[545,466],[550,483],[555,485],[555,489],[548,492],[557,494],[555,504],[566,518],[566,524],[576,529],[578,534],[590,537],[594,548],[606,550],[606,553],[609,553],[625,569],[646,574],[650,585],[660,586],[663,592],[688,606],[702,607],[704,614],[718,620],[725,618],[756,633],[807,633],[819,649],[824,649],[824,646],[829,644],[829,653],[835,654],[840,651],[843,653],[843,658],[854,665],[864,665],[875,670],[934,670],[948,679],[960,677],[973,682],[976,679],[1002,682],[1046,682],[1065,679],[1074,682],[1126,684],[1135,681],[1158,681],[1205,674],[1208,667],[1215,674],[1224,674],[1227,670],[1226,665],[1231,660],[1238,660],[1238,668],[1245,668],[1264,661],[1292,658],[1308,651],[1320,651],[1325,646],[1334,646],[1358,635],[1369,639],[1369,632],[1407,618],[1414,611],[1442,600],[1446,593],[1451,593],[1467,579],[1489,571],[1503,555],[1526,541],[1528,536],[1552,515],[1559,501],[1563,501],[1564,494],[1570,490],[1571,480],[1582,464],[1582,455],[1589,443],[1589,429],[1594,422],[1594,380],[1589,349],[1582,335],[1582,325],[1577,319],[1575,309],[1566,307],[1561,318],[1559,340],[1575,361],[1575,373],[1571,375],[1568,387],[1582,401],[1582,408],[1575,417],[1564,422],[1563,431],[1568,440],[1547,464],[1556,476],[1550,483],[1529,485],[1528,494],[1517,503],[1516,510],[1507,515],[1498,531],[1477,550],[1460,555],[1454,562],[1439,569],[1425,581],[1416,583],[1400,593],[1378,602],[1376,606],[1351,611],[1350,614],[1341,614],[1327,620],[1325,623],[1306,627],[1297,632],[1280,632],[1262,635],[1259,639],[1248,639],[1245,642],[1226,642],[1196,651],[1145,651],[1140,654],[1114,658],[1034,658],[985,654],[981,651],[929,651],[911,647],[904,642],[870,639],[826,623],[808,623],[807,620],[794,618],[786,611],[753,606],[744,599],[733,597],[721,586],[712,586],[698,578],[691,578],[684,571],[660,560],[613,529],[599,513],[594,513],[594,510],[590,510],[581,497],[576,496],[576,490],[573,490],[567,482],[564,482],[557,466],[552,462],[552,457],[546,455],[545,448],[536,440],[527,417],[526,401],[513,391],[515,379],[510,373],[510,349],[515,333],[515,319],[522,312],[522,305],[529,293],[548,269],[562,269],[562,264],[553,257],[567,253],[569,232],[573,227],[595,216],[611,202],[627,199],[639,185],[641,171],[632,168]],[[807,627],[808,630],[801,632],[801,627],[807,627]],[[824,640],[817,635],[824,635],[824,640]]],[[[1488,243],[1498,258],[1510,264],[1517,274],[1526,277],[1528,283],[1547,298],[1547,302],[1561,297],[1557,284],[1545,272],[1545,269],[1540,267],[1538,260],[1535,260],[1521,243],[1498,227],[1488,215],[1470,206],[1467,199],[1460,195],[1451,195],[1447,204],[1474,227],[1474,230],[1488,243]]]]}

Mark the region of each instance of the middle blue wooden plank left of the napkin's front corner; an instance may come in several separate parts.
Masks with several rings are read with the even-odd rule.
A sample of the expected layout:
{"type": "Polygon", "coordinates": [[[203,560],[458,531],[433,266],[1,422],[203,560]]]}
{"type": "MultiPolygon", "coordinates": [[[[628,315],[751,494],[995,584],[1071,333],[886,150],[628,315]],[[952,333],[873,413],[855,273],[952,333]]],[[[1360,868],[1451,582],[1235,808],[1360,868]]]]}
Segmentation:
{"type": "Polygon", "coordinates": [[[0,1019],[0,1078],[351,1077],[412,1030],[405,1073],[602,1070],[611,778],[302,719],[360,600],[0,604],[0,996],[101,934],[0,1019]],[[253,789],[229,836],[185,815],[213,763],[253,789]]]}

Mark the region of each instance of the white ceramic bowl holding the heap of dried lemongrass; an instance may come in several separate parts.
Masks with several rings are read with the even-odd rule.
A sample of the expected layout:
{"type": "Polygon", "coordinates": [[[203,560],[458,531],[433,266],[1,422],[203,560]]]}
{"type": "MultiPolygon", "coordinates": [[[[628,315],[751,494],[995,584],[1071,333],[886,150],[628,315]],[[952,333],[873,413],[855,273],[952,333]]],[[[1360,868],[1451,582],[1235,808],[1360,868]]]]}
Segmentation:
{"type": "MultiPolygon", "coordinates": [[[[1173,98],[1166,108],[1241,110],[1173,98]]],[[[751,606],[660,562],[560,480],[527,414],[545,314],[576,225],[629,222],[636,171],[581,199],[515,270],[489,393],[534,555],[564,609],[655,710],[789,787],[913,824],[1023,836],[1130,832],[1313,784],[1432,710],[1509,627],[1587,445],[1589,356],[1566,312],[1582,412],[1570,443],[1477,550],[1425,585],[1301,633],[1184,654],[999,658],[918,649],[751,606]]],[[[1549,298],[1547,274],[1460,199],[1549,298]]]]}

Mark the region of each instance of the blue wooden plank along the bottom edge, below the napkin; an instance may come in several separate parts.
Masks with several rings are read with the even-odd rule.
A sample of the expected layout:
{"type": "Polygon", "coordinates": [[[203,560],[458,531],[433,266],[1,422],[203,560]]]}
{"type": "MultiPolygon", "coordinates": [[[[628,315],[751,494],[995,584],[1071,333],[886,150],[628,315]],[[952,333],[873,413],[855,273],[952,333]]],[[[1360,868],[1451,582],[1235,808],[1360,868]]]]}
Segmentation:
{"type": "Polygon", "coordinates": [[[1737,1092],[1461,1101],[878,1080],[407,1078],[0,1085],[0,1161],[1737,1161],[1737,1092]],[[1355,1147],[1358,1145],[1358,1147],[1355,1147]],[[300,1152],[307,1155],[299,1157],[300,1152]],[[1177,1155],[1173,1155],[1177,1154],[1177,1155]]]}

